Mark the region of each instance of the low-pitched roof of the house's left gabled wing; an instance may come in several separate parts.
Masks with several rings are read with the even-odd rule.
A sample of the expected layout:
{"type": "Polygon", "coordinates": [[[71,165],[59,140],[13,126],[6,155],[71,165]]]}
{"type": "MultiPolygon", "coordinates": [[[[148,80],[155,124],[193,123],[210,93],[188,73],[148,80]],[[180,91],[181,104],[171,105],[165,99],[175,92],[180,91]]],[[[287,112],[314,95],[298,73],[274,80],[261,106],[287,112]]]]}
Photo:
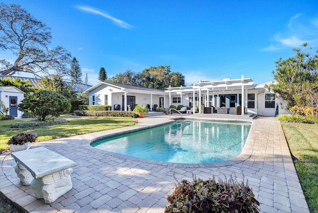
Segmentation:
{"type": "Polygon", "coordinates": [[[101,85],[108,85],[111,87],[115,87],[118,88],[120,90],[123,91],[140,91],[140,92],[148,92],[148,93],[161,93],[164,94],[164,90],[159,90],[159,89],[154,89],[154,88],[148,88],[148,87],[137,87],[137,86],[131,86],[131,85],[124,85],[124,84],[118,84],[118,83],[110,83],[110,82],[98,82],[97,84],[95,84],[94,86],[92,86],[91,88],[87,89],[84,91],[84,93],[88,93],[96,88],[98,88],[101,85]]]}

